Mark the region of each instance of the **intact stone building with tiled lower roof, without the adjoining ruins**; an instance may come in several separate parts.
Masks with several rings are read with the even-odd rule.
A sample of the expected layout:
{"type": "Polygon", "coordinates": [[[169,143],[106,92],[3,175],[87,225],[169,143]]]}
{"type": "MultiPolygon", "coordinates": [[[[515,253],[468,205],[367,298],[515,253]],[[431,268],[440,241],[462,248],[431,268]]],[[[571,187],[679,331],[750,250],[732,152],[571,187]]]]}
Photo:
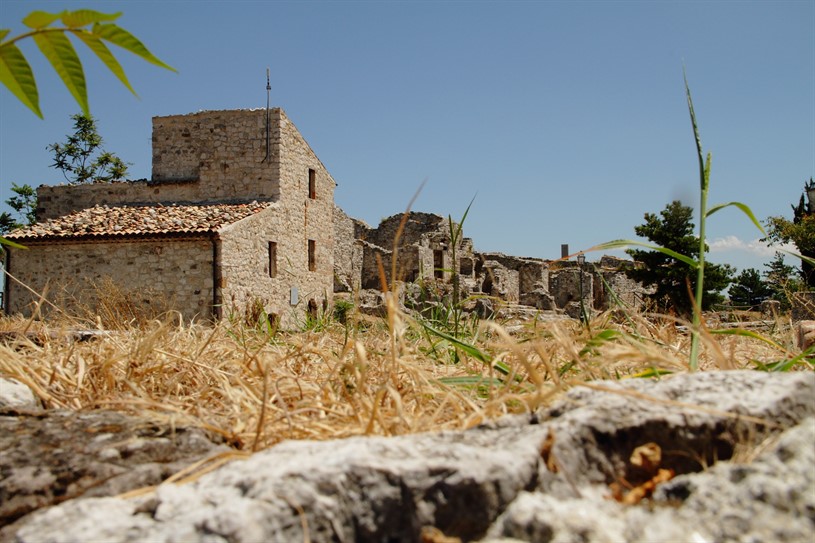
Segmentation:
{"type": "Polygon", "coordinates": [[[7,251],[6,308],[92,306],[110,278],[188,320],[295,326],[332,302],[334,188],[281,109],[156,117],[149,181],[38,189],[38,224],[7,236],[27,249],[7,251]]]}

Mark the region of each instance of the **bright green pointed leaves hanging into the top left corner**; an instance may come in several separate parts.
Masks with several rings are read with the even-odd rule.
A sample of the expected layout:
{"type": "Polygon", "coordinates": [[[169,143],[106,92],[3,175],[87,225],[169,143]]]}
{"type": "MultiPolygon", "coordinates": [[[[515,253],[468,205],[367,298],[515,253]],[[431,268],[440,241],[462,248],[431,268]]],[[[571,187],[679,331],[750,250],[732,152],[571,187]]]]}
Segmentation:
{"type": "Polygon", "coordinates": [[[130,85],[119,61],[108,49],[108,43],[130,51],[151,64],[175,71],[174,68],[154,56],[130,32],[111,22],[121,15],[121,13],[100,13],[89,9],[65,10],[59,13],[32,11],[22,21],[29,28],[28,32],[8,37],[11,30],[0,29],[0,82],[20,102],[42,118],[34,73],[25,55],[17,46],[18,42],[27,38],[34,41],[40,52],[54,67],[85,115],[90,115],[85,71],[68,36],[73,36],[93,51],[133,94],[136,94],[136,91],[130,85]],[[62,26],[51,26],[57,21],[62,26]]]}

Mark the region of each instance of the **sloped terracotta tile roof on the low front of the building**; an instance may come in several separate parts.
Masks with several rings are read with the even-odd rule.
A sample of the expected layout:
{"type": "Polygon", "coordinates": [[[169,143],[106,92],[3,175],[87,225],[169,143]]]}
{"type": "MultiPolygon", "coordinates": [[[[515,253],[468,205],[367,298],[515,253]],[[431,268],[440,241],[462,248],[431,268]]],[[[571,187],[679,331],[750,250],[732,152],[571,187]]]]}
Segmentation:
{"type": "Polygon", "coordinates": [[[215,205],[94,206],[6,235],[12,240],[205,234],[254,215],[269,202],[215,205]]]}

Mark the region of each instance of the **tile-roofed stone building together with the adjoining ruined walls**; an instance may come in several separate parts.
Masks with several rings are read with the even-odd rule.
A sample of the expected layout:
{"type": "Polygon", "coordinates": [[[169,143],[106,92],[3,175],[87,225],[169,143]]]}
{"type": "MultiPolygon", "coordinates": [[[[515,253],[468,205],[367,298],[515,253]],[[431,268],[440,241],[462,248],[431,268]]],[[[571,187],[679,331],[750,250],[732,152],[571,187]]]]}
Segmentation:
{"type": "Polygon", "coordinates": [[[388,284],[449,293],[455,278],[459,299],[572,316],[608,308],[612,291],[641,302],[621,262],[479,253],[431,213],[372,228],[335,206],[335,186],[281,109],[156,117],[150,180],[38,188],[39,222],[7,236],[27,249],[6,251],[5,309],[31,314],[41,293],[69,313],[94,308],[112,281],[186,320],[265,316],[296,328],[335,292],[376,294],[380,263],[388,284]]]}

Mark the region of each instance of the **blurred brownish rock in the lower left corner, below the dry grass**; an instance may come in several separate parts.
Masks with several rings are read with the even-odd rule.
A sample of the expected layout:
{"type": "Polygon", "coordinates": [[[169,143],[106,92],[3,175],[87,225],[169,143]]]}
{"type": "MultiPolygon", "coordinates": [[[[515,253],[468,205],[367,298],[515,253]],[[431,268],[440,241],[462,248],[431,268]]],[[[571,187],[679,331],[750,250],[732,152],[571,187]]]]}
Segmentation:
{"type": "Polygon", "coordinates": [[[198,428],[113,411],[6,409],[0,412],[0,527],[75,497],[159,484],[220,450],[227,447],[198,428]]]}

